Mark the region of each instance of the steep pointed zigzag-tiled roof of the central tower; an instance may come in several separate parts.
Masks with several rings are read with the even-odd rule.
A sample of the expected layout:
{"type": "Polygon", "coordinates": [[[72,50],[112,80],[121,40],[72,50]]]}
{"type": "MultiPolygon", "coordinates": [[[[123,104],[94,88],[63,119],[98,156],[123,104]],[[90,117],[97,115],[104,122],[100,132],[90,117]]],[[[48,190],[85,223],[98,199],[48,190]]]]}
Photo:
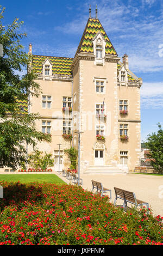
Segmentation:
{"type": "Polygon", "coordinates": [[[101,25],[101,22],[98,19],[92,19],[92,18],[89,18],[89,20],[87,21],[87,24],[86,24],[82,39],[80,40],[76,54],[78,52],[92,53],[93,52],[92,39],[96,36],[98,32],[101,32],[101,34],[104,36],[104,39],[106,41],[105,53],[117,56],[115,48],[112,46],[108,38],[108,35],[106,35],[104,28],[101,25]]]}

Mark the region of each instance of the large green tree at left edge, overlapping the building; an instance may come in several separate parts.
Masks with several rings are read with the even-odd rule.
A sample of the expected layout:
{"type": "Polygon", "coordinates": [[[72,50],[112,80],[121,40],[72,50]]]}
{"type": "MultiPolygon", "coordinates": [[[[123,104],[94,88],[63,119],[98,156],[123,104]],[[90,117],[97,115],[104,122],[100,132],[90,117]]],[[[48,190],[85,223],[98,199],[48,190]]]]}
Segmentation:
{"type": "Polygon", "coordinates": [[[0,44],[3,46],[3,57],[0,57],[0,167],[16,169],[27,161],[27,144],[35,148],[38,141],[50,142],[51,136],[36,131],[38,113],[21,114],[17,101],[27,101],[30,95],[39,96],[41,91],[32,70],[22,75],[31,63],[31,57],[20,43],[26,33],[18,33],[23,22],[15,19],[11,25],[3,26],[4,10],[0,7],[0,44]]]}

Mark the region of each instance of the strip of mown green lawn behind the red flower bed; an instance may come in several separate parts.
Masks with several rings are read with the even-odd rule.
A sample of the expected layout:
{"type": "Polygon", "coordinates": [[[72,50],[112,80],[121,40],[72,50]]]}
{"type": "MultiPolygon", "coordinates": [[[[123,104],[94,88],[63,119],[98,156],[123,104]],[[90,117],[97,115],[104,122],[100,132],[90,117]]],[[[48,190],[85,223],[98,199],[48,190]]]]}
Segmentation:
{"type": "Polygon", "coordinates": [[[0,181],[2,180],[9,182],[20,181],[21,183],[37,181],[39,183],[50,182],[55,184],[65,184],[65,182],[55,174],[0,174],[0,181]]]}

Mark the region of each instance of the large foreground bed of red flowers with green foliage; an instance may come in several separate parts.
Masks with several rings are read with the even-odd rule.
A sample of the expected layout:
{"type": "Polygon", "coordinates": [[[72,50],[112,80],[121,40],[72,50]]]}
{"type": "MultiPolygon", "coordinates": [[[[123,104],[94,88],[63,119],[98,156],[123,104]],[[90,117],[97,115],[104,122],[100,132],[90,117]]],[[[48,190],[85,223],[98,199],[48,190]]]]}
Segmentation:
{"type": "Polygon", "coordinates": [[[162,217],[82,187],[0,182],[0,245],[163,245],[162,217]]]}

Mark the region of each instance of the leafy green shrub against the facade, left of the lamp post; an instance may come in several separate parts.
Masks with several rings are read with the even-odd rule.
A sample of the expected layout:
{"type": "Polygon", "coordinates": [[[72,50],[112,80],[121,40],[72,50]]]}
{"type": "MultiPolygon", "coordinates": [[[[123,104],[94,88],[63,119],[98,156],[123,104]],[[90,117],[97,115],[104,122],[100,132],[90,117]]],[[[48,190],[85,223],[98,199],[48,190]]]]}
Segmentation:
{"type": "Polygon", "coordinates": [[[52,154],[47,154],[45,152],[45,155],[42,155],[43,152],[39,150],[35,150],[32,154],[29,154],[29,164],[30,167],[33,167],[35,169],[41,168],[45,170],[48,167],[54,166],[54,159],[52,159],[52,154]]]}

